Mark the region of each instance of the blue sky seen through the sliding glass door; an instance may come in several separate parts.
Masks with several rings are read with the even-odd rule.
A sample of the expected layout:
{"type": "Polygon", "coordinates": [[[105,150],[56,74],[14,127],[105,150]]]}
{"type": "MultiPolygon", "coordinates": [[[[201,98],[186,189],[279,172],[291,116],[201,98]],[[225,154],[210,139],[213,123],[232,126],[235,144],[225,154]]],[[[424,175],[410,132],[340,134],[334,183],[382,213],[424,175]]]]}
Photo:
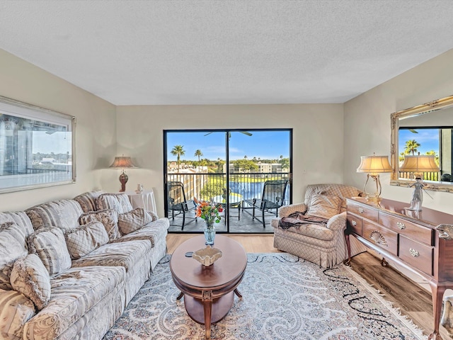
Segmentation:
{"type": "MultiPolygon", "coordinates": [[[[251,136],[241,132],[231,132],[229,140],[230,159],[280,159],[280,155],[289,157],[289,131],[250,131],[251,136]]],[[[167,159],[176,161],[176,156],[171,154],[175,145],[183,145],[185,155],[181,159],[198,160],[195,150],[200,149],[201,159],[212,161],[225,159],[225,132],[168,132],[167,133],[167,159]]]]}

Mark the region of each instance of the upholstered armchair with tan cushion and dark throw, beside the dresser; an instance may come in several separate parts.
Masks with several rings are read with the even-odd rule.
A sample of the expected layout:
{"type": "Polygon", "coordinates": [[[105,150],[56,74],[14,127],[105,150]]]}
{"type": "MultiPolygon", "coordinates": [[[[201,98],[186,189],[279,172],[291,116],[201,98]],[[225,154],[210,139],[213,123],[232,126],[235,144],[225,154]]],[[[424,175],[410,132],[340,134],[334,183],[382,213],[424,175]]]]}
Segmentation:
{"type": "MultiPolygon", "coordinates": [[[[359,189],[343,184],[307,186],[303,203],[282,206],[278,210],[279,217],[271,221],[275,248],[323,268],[348,259],[344,234],[346,198],[361,193],[359,189]]],[[[354,237],[350,237],[350,247],[351,256],[366,251],[354,237]]]]}

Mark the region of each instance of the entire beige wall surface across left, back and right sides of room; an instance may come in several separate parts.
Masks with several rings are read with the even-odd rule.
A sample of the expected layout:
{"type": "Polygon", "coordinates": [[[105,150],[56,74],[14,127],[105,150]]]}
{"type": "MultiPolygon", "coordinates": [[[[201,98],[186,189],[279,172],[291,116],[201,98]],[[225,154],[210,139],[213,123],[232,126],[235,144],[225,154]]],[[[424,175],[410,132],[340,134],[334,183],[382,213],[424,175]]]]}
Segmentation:
{"type": "MultiPolygon", "coordinates": [[[[238,106],[120,106],[63,81],[0,50],[0,95],[75,115],[77,182],[0,195],[1,210],[21,210],[46,200],[96,188],[117,191],[118,170],[106,169],[115,155],[130,155],[140,169],[128,171],[128,190],[153,188],[164,215],[163,130],[293,128],[294,202],[309,183],[365,183],[355,169],[360,156],[389,154],[390,114],[452,94],[453,50],[342,104],[238,106]],[[343,113],[344,110],[344,113],[343,113]],[[116,119],[115,119],[116,113],[116,119]],[[344,125],[344,127],[343,127],[344,125]],[[343,173],[344,171],[344,173],[343,173]],[[344,175],[344,176],[343,176],[344,175]]],[[[389,186],[385,198],[407,201],[412,190],[389,186]]],[[[452,194],[430,192],[424,206],[453,213],[452,194]]]]}

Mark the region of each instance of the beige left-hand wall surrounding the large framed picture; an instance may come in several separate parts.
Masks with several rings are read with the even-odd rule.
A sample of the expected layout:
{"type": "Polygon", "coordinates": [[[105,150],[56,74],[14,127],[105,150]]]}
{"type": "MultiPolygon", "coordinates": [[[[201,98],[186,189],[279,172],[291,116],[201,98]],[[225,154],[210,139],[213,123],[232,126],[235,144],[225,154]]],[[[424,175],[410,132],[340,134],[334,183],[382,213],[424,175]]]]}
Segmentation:
{"type": "Polygon", "coordinates": [[[0,79],[0,96],[74,115],[77,124],[76,183],[1,194],[0,210],[23,210],[100,188],[108,171],[103,169],[116,151],[115,106],[4,50],[0,50],[0,79]]]}

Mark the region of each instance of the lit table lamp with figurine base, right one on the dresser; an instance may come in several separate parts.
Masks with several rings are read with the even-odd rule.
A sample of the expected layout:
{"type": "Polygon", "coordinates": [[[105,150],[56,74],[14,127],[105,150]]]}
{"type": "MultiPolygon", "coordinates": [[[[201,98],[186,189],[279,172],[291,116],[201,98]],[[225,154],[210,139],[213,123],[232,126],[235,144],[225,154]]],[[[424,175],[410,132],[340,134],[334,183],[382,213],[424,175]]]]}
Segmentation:
{"type": "Polygon", "coordinates": [[[423,203],[423,173],[424,172],[438,172],[439,166],[435,162],[433,154],[418,154],[417,156],[406,155],[404,156],[403,164],[399,167],[401,172],[411,172],[415,183],[409,187],[414,188],[411,200],[411,207],[408,210],[421,211],[423,203]]]}

